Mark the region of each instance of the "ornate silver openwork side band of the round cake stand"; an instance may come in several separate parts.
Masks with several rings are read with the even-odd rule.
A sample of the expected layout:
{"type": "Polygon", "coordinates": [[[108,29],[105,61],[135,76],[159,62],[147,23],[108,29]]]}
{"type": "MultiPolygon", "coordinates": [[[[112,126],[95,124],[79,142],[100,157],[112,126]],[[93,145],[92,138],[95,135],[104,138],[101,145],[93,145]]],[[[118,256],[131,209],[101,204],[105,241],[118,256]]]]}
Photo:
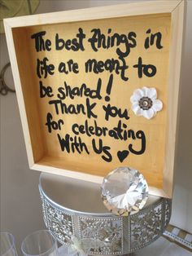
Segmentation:
{"type": "Polygon", "coordinates": [[[159,198],[137,214],[117,217],[62,210],[41,188],[40,196],[46,227],[54,232],[59,243],[72,245],[72,235],[107,241],[107,246],[91,249],[89,255],[123,255],[142,249],[162,235],[171,218],[172,201],[165,198],[159,198]]]}

